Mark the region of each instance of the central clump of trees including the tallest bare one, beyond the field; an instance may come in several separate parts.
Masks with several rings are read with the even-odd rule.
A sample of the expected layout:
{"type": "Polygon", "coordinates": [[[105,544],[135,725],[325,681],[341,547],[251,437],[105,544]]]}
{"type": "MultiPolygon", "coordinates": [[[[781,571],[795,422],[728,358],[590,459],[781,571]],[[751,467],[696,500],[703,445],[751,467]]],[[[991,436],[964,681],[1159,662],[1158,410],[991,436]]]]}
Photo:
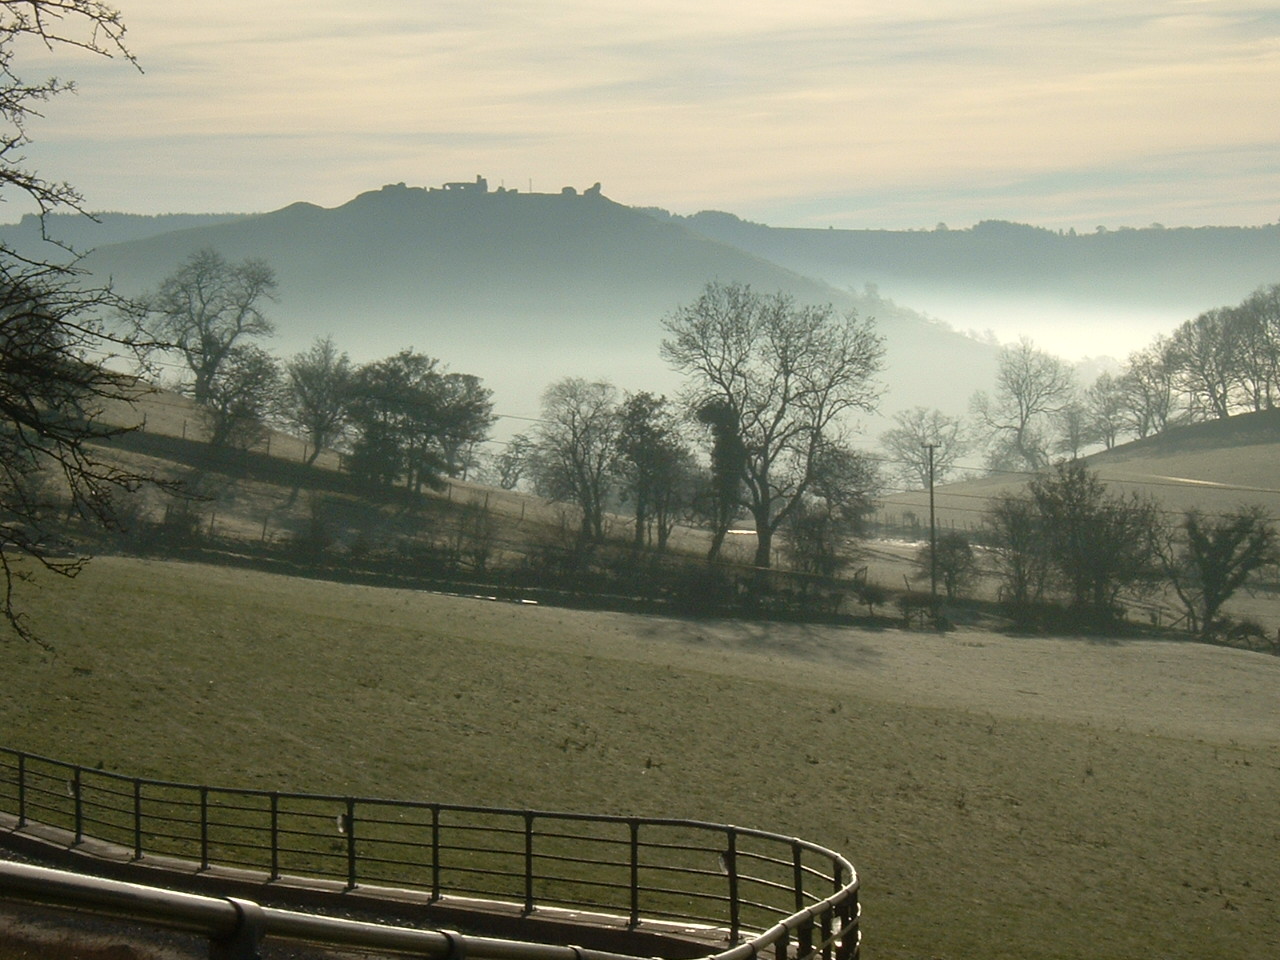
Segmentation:
{"type": "Polygon", "coordinates": [[[773,564],[781,531],[794,566],[833,575],[879,483],[845,435],[845,416],[878,396],[872,323],[713,283],[663,324],[663,356],[687,376],[677,401],[579,378],[552,384],[541,425],[499,457],[500,481],[527,477],[573,503],[584,544],[604,539],[616,502],[630,507],[636,547],[663,550],[677,521],[696,522],[717,559],[745,515],[756,567],[773,564]]]}

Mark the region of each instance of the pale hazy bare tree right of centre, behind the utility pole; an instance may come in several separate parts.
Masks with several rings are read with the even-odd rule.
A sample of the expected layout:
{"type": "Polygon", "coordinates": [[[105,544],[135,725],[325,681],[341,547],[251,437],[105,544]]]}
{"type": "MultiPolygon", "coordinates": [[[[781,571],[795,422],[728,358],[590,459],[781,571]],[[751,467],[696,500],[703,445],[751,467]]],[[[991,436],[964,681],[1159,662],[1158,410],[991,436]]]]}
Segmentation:
{"type": "Polygon", "coordinates": [[[986,430],[997,470],[1041,470],[1048,463],[1050,419],[1070,401],[1070,367],[1025,337],[1002,347],[993,396],[977,393],[973,412],[986,430]]]}

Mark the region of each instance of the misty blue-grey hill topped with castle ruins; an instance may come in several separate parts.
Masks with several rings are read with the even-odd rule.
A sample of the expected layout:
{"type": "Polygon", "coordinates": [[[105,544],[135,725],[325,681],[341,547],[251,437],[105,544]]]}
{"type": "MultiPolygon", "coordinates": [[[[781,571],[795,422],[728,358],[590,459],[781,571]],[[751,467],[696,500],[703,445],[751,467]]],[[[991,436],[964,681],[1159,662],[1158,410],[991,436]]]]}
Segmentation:
{"type": "Polygon", "coordinates": [[[102,246],[86,265],[141,292],[201,247],[275,269],[278,352],[324,334],[356,360],[413,347],[484,378],[502,413],[535,413],[543,388],[564,375],[673,392],[678,380],[658,355],[660,319],[709,280],[874,316],[888,344],[888,410],[960,408],[995,371],[989,343],[594,192],[394,184],[335,209],[294,204],[102,246]]]}

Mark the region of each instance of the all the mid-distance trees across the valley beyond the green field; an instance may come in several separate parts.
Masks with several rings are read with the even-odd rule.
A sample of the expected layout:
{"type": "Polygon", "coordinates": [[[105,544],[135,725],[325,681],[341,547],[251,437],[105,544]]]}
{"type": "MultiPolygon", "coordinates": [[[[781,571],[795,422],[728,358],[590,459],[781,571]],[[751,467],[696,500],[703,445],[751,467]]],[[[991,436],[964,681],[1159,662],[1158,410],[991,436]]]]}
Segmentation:
{"type": "MultiPolygon", "coordinates": [[[[330,338],[279,364],[257,343],[271,333],[264,305],[274,288],[260,261],[229,264],[202,251],[138,308],[140,329],[183,358],[186,389],[212,443],[247,444],[276,421],[306,438],[308,462],[338,447],[347,468],[371,484],[420,493],[479,471],[507,489],[525,485],[572,507],[570,550],[580,570],[611,540],[664,553],[680,524],[709,530],[714,561],[735,521],[748,520],[756,568],[781,559],[829,580],[855,556],[882,489],[879,461],[855,452],[846,434],[846,415],[876,404],[881,340],[869,320],[829,306],[708,284],[663,320],[663,357],[686,375],[678,397],[564,378],[545,389],[536,428],[483,458],[475,449],[489,438],[494,415],[477,378],[412,349],[356,366],[330,338]],[[630,526],[622,538],[611,529],[618,517],[630,526]]],[[[1265,301],[1260,292],[1230,323],[1239,329],[1245,317],[1266,316],[1265,301]]],[[[1229,314],[1206,316],[1225,324],[1229,314]]],[[[1207,335],[1210,325],[1201,317],[1180,328],[1169,343],[1181,352],[1169,348],[1169,356],[1192,356],[1190,338],[1207,335]]],[[[1080,393],[1062,361],[1021,340],[1001,349],[995,388],[974,397],[970,424],[923,407],[896,415],[882,444],[900,483],[941,483],[979,447],[991,468],[1034,474],[1023,493],[1000,497],[987,511],[984,568],[954,531],[922,550],[922,573],[948,600],[988,575],[1019,622],[1101,626],[1123,616],[1121,596],[1169,586],[1193,632],[1213,639],[1239,627],[1222,605],[1254,571],[1276,562],[1271,522],[1242,509],[1188,513],[1169,525],[1153,502],[1108,494],[1076,458],[1100,439],[1110,444],[1143,424],[1174,421],[1171,406],[1148,403],[1155,362],[1149,352],[1135,355],[1124,374],[1105,374],[1080,393]],[[1055,454],[1065,458],[1050,467],[1055,454]]],[[[1266,387],[1261,362],[1247,367],[1249,376],[1236,374],[1225,393],[1193,376],[1202,366],[1181,362],[1176,383],[1201,385],[1206,404],[1196,410],[1215,416],[1244,402],[1268,408],[1280,393],[1266,387]],[[1231,398],[1225,407],[1222,397],[1231,398]]],[[[1166,380],[1169,397],[1172,383],[1166,380]]],[[[1183,419],[1190,410],[1181,407],[1183,419]]],[[[472,520],[489,530],[484,517],[472,520]]],[[[884,600],[874,584],[860,591],[869,609],[884,600]]]]}

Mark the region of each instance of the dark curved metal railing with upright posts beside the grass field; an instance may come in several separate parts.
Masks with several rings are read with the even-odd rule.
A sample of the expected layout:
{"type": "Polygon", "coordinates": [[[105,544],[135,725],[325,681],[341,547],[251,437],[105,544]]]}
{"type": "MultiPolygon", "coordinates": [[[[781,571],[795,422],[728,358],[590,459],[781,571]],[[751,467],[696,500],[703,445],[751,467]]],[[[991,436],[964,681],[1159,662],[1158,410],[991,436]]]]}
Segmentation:
{"type": "Polygon", "coordinates": [[[0,810],[200,868],[232,867],[724,931],[751,955],[851,960],[858,879],[831,850],[764,831],[125,777],[0,748],[0,810]]]}

